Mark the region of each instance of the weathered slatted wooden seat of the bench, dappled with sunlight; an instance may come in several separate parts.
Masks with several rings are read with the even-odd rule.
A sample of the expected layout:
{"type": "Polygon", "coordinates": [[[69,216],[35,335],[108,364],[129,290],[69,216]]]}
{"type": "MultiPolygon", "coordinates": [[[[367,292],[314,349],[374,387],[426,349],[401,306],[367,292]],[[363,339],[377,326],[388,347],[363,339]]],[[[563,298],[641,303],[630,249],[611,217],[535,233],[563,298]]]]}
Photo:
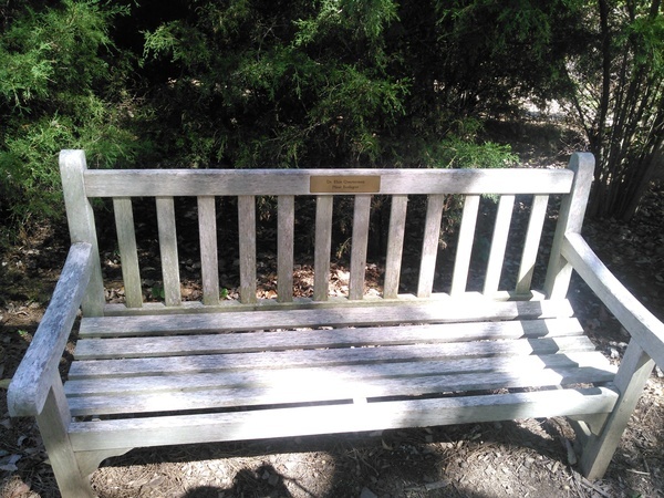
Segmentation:
{"type": "Polygon", "coordinates": [[[479,422],[497,411],[551,416],[551,406],[609,413],[618,395],[594,386],[615,369],[571,315],[567,300],[447,299],[85,318],[64,385],[80,417],[71,437],[85,435],[80,449],[110,449],[128,434],[131,446],[148,433],[151,445],[172,444],[170,430],[158,442],[163,424],[194,443],[201,427],[206,440],[210,432],[232,440],[308,425],[315,434],[479,422]],[[114,430],[122,438],[108,437],[114,430]]]}

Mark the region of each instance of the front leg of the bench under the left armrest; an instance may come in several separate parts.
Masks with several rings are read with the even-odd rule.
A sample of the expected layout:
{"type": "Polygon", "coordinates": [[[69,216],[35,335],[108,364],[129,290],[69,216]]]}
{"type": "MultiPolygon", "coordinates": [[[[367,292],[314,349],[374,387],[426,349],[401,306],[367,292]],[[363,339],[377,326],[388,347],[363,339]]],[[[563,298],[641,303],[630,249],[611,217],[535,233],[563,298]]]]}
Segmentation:
{"type": "Polygon", "coordinates": [[[62,497],[94,498],[96,495],[90,485],[90,478],[81,473],[66,433],[70,421],[62,383],[58,378],[49,392],[42,413],[37,416],[37,424],[62,497]]]}

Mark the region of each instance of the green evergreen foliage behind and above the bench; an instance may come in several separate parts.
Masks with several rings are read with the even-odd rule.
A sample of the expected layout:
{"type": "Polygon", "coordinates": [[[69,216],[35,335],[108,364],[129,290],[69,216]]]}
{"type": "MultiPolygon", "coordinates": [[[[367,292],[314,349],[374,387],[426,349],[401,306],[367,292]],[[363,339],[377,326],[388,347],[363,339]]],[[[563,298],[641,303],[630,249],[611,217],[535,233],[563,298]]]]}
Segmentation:
{"type": "Polygon", "coordinates": [[[10,0],[0,210],[61,212],[73,147],[94,167],[502,167],[481,123],[530,98],[570,103],[595,212],[629,217],[662,155],[663,33],[661,0],[10,0]]]}

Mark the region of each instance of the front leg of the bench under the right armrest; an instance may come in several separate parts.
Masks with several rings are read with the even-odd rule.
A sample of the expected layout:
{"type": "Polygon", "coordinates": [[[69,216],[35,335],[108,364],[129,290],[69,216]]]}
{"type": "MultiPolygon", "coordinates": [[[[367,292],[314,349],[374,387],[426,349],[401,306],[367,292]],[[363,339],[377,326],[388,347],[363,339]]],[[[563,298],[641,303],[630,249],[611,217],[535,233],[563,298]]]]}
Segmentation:
{"type": "Polygon", "coordinates": [[[653,360],[631,341],[615,375],[620,397],[602,430],[590,435],[581,454],[581,473],[588,479],[601,479],[606,471],[653,367],[653,360]]]}

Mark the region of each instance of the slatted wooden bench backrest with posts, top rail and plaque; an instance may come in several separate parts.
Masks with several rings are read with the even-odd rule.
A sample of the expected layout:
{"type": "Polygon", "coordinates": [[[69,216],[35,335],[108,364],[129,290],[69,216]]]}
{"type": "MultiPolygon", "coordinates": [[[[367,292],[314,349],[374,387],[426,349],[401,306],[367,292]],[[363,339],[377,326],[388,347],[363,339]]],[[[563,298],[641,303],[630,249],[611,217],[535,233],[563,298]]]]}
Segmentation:
{"type": "MultiPolygon", "coordinates": [[[[427,299],[434,290],[438,271],[450,272],[450,287],[446,294],[461,295],[467,291],[470,255],[476,239],[480,197],[497,197],[492,238],[486,262],[481,293],[488,298],[506,297],[530,299],[532,272],[538,258],[542,227],[547,217],[549,198],[562,196],[556,236],[551,243],[546,297],[562,297],[569,284],[569,264],[560,256],[560,241],[566,231],[580,231],[583,212],[592,181],[594,159],[591,154],[574,154],[568,169],[134,169],[91,170],[82,151],[63,151],[60,167],[64,198],[73,242],[87,241],[96,251],[95,271],[91,281],[84,312],[104,314],[104,301],[94,214],[91,199],[112,198],[115,214],[117,246],[121,253],[126,309],[137,312],[145,308],[138,264],[134,210],[132,198],[153,197],[159,237],[159,251],[164,284],[162,308],[174,310],[191,308],[183,303],[176,235],[174,198],[185,196],[197,199],[199,227],[200,273],[203,307],[222,307],[219,294],[218,234],[216,198],[237,198],[239,234],[239,303],[262,305],[257,300],[257,209],[256,199],[270,196],[277,199],[278,290],[274,305],[305,305],[293,297],[293,241],[295,198],[315,198],[314,282],[313,297],[307,302],[324,303],[329,300],[330,255],[332,253],[333,203],[336,196],[352,196],[352,242],[347,302],[367,299],[364,294],[370,216],[372,199],[390,199],[390,220],[384,249],[384,278],[382,292],[371,299],[398,300],[400,274],[404,238],[406,234],[409,196],[426,196],[424,232],[419,255],[419,273],[414,292],[427,299]],[[456,256],[452,268],[437,267],[440,225],[448,196],[459,196],[463,214],[458,228],[456,256]],[[528,229],[520,247],[520,264],[513,289],[499,289],[505,266],[505,252],[517,195],[531,199],[528,229]],[[507,293],[505,291],[508,291],[507,293]]],[[[412,198],[412,197],[411,197],[412,198]]],[[[530,203],[530,201],[529,201],[530,203]]],[[[408,218],[409,219],[409,218],[408,218]]],[[[411,298],[412,299],[412,298],[411,298]]],[[[237,304],[237,303],[234,303],[237,304]]],[[[123,307],[124,308],[124,307],[123,307]]],[[[155,308],[152,307],[151,310],[155,308]]],[[[116,310],[117,311],[117,310],[116,310]]]]}

